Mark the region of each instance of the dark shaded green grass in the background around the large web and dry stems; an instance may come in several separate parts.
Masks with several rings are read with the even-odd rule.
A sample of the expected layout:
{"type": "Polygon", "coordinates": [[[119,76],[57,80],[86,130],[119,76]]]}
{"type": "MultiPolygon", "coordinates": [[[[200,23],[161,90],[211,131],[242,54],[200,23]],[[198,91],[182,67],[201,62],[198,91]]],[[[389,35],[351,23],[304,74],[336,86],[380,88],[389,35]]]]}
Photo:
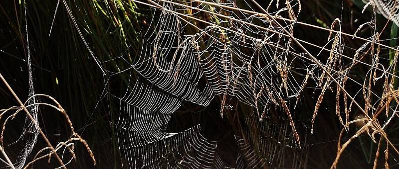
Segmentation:
{"type": "MultiPolygon", "coordinates": [[[[121,168],[124,163],[115,139],[112,127],[114,107],[108,102],[108,96],[103,94],[104,76],[86,49],[73,22],[67,14],[62,1],[55,15],[52,32],[50,28],[57,0],[26,0],[21,4],[18,0],[3,0],[0,2],[0,72],[11,84],[18,96],[24,100],[27,98],[27,70],[26,70],[26,37],[23,3],[26,3],[27,28],[29,45],[32,56],[34,87],[37,93],[45,93],[56,98],[67,111],[76,131],[88,142],[97,159],[97,165],[92,166],[91,160],[83,147],[76,149],[77,161],[70,168],[121,168]]],[[[113,56],[122,55],[129,47],[129,55],[137,53],[138,38],[142,29],[146,28],[143,14],[147,8],[136,6],[128,0],[110,0],[107,2],[96,0],[69,0],[67,1],[75,16],[84,38],[95,56],[107,60],[113,56]],[[117,6],[115,6],[118,4],[117,6]],[[123,7],[120,7],[123,6],[123,7]],[[107,8],[105,8],[107,7],[107,8]],[[141,8],[140,8],[141,7],[141,8]],[[109,19],[112,17],[112,19],[109,19]],[[110,21],[112,20],[112,21],[110,21]]],[[[353,33],[360,24],[369,21],[371,11],[361,13],[363,3],[361,0],[303,0],[299,21],[313,25],[329,27],[335,18],[342,20],[343,32],[353,33]]],[[[387,20],[378,15],[377,30],[381,31],[387,20]]],[[[390,38],[391,24],[382,37],[390,38]]],[[[325,44],[328,32],[305,26],[297,26],[295,36],[313,44],[325,44]]],[[[365,29],[360,36],[370,36],[370,30],[365,29]]],[[[346,45],[357,49],[363,42],[346,37],[346,45]]],[[[382,42],[384,44],[390,41],[382,42]]],[[[319,49],[305,46],[312,53],[318,53],[319,49]]],[[[385,52],[388,54],[388,52],[385,52]]],[[[353,56],[354,53],[348,53],[353,56]]],[[[326,55],[328,56],[328,54],[326,55]]],[[[388,62],[389,55],[384,55],[388,62]]],[[[326,60],[320,55],[320,60],[326,60]]],[[[367,58],[365,59],[367,61],[367,58]]],[[[357,67],[359,75],[367,72],[365,67],[357,67]]],[[[355,72],[355,71],[354,71],[355,72]]],[[[361,82],[364,77],[352,74],[354,79],[361,82]]],[[[112,83],[112,82],[111,82],[112,83]]],[[[117,83],[117,82],[114,82],[117,83]]],[[[352,84],[353,85],[353,84],[352,84]]],[[[348,84],[351,93],[351,84],[348,84]]],[[[302,96],[299,108],[294,113],[299,114],[297,121],[309,124],[314,111],[319,90],[306,88],[302,96]],[[305,120],[306,119],[306,120],[305,120]]],[[[355,92],[355,91],[353,91],[355,92]]],[[[351,93],[354,94],[354,93],[351,93]]],[[[325,95],[325,101],[319,111],[315,123],[315,131],[310,135],[307,131],[306,150],[308,168],[329,168],[336,157],[337,142],[342,126],[335,116],[335,94],[325,95]]],[[[15,105],[13,97],[3,84],[0,84],[0,108],[15,105]]],[[[364,104],[364,103],[363,103],[364,104]]],[[[217,100],[207,108],[185,104],[172,117],[170,131],[182,131],[195,124],[204,124],[203,133],[206,137],[223,141],[223,138],[232,137],[231,130],[234,124],[230,124],[227,118],[220,118],[220,103],[217,100]],[[191,113],[200,111],[199,113],[191,113]]],[[[355,114],[356,114],[356,110],[355,114]]],[[[22,117],[20,117],[22,118],[22,117]]],[[[18,121],[17,119],[14,121],[18,121]]],[[[43,108],[39,111],[39,123],[53,143],[65,140],[69,137],[69,129],[65,119],[58,113],[43,108]]],[[[8,128],[8,138],[15,138],[13,133],[18,131],[17,122],[8,128]],[[15,130],[15,132],[14,132],[15,130]]],[[[20,126],[19,126],[20,127],[20,126]]],[[[310,128],[310,126],[308,126],[310,128]]],[[[392,127],[395,133],[397,125],[392,127]]],[[[392,136],[392,138],[398,138],[392,136]]],[[[5,138],[7,139],[7,137],[5,138]]],[[[348,138],[344,138],[344,140],[348,138]]],[[[225,147],[221,152],[229,154],[234,152],[229,147],[226,139],[225,147]]],[[[7,140],[6,140],[7,142],[7,140]]],[[[12,142],[8,140],[8,142],[12,142]]],[[[39,138],[35,149],[43,147],[43,141],[39,138]]],[[[350,145],[343,154],[340,167],[345,168],[370,168],[374,162],[376,145],[366,137],[359,137],[350,145]]],[[[11,156],[18,152],[8,150],[11,156]]],[[[233,155],[232,155],[233,156],[233,155]]],[[[228,157],[228,156],[226,156],[228,157]]],[[[231,159],[223,159],[227,164],[231,159]]],[[[396,162],[397,163],[397,162],[396,162]]],[[[44,160],[37,164],[39,168],[54,168],[56,161],[50,164],[44,160]]],[[[395,163],[391,167],[394,168],[395,163]]]]}

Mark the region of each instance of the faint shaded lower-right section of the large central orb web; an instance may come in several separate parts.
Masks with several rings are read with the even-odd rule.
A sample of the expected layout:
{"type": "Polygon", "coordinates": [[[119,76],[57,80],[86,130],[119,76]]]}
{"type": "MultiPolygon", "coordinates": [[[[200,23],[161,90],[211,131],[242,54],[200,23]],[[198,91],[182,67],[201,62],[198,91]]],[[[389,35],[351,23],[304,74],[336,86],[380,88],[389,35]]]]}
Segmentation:
{"type": "Polygon", "coordinates": [[[258,121],[256,116],[247,115],[245,124],[244,136],[235,136],[240,150],[238,169],[306,167],[306,150],[296,148],[289,122],[273,122],[268,118],[258,121]]]}

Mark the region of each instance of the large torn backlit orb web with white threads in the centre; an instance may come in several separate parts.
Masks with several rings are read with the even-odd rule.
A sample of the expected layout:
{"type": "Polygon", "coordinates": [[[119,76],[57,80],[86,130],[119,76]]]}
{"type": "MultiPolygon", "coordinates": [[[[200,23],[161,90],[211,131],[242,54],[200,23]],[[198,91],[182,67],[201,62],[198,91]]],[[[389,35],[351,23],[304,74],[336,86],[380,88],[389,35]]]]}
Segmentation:
{"type": "MultiPolygon", "coordinates": [[[[119,104],[114,124],[128,168],[224,168],[226,164],[216,152],[217,142],[203,137],[200,125],[178,133],[166,132],[171,115],[183,102],[207,106],[217,96],[222,98],[220,114],[223,117],[223,109],[230,105],[228,98],[236,98],[253,107],[253,120],[259,121],[271,106],[287,108],[284,100],[297,97],[306,83],[293,72],[306,74],[309,63],[291,54],[294,51],[291,40],[264,16],[206,2],[195,2],[191,7],[185,5],[186,1],[135,2],[151,7],[146,17],[150,21],[139,37],[141,51],[137,56],[123,55],[102,62],[107,68],[115,68],[106,70],[110,73],[109,82],[126,77],[123,75],[130,77],[118,80],[126,84],[121,90],[109,91],[112,101],[119,104]]],[[[209,2],[229,7],[237,5],[229,0],[209,2]]],[[[246,1],[240,5],[251,9],[246,1]]],[[[290,1],[287,6],[273,6],[275,11],[270,13],[295,19],[292,14],[299,5],[297,1],[290,1]]],[[[291,29],[293,23],[281,24],[291,29]]],[[[265,131],[281,129],[258,134],[276,137],[283,146],[290,145],[296,150],[299,138],[294,134],[296,129],[288,109],[286,113],[289,121],[284,123],[285,128],[266,125],[265,131]],[[287,134],[272,135],[277,132],[287,134]],[[287,142],[287,136],[293,140],[287,142]]],[[[275,155],[271,149],[277,146],[260,139],[258,153],[263,154],[254,157],[253,145],[243,141],[252,139],[251,132],[246,130],[246,133],[236,137],[241,150],[236,167],[279,168],[284,157],[281,152],[269,158],[275,155]]],[[[300,166],[296,162],[292,164],[300,166]]]]}

